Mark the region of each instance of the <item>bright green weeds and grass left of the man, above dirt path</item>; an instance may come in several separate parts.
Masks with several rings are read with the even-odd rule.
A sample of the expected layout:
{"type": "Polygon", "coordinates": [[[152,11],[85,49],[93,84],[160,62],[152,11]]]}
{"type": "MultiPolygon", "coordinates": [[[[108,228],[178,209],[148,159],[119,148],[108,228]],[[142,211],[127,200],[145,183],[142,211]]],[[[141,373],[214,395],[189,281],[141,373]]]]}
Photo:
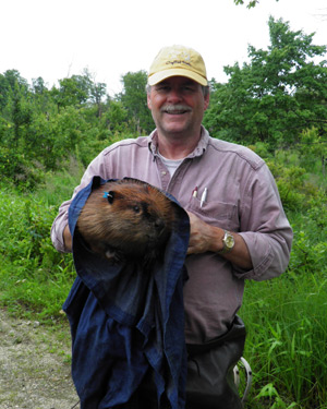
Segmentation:
{"type": "Polygon", "coordinates": [[[76,183],[72,176],[52,177],[34,195],[1,187],[0,305],[16,312],[33,310],[39,320],[60,318],[75,272],[71,254],[52,246],[50,227],[58,203],[76,183]]]}

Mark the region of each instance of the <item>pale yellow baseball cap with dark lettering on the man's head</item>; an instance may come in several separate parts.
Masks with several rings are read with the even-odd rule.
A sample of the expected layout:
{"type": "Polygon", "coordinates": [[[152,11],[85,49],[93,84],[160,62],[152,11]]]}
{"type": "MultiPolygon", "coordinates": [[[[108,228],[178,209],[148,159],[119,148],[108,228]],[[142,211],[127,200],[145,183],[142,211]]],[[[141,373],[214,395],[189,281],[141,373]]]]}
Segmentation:
{"type": "Polygon", "coordinates": [[[186,76],[207,86],[207,71],[202,56],[183,46],[162,48],[148,73],[148,85],[155,85],[170,76],[186,76]]]}

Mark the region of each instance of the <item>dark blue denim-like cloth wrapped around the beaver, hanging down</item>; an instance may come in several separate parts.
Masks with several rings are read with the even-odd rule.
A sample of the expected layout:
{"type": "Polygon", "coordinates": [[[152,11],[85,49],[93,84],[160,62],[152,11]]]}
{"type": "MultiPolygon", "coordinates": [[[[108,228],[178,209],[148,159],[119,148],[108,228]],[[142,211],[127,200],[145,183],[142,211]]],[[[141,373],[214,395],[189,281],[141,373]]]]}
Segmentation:
{"type": "Polygon", "coordinates": [[[185,405],[186,350],[183,282],[190,220],[177,201],[178,221],[165,257],[145,273],[135,262],[111,264],[85,246],[76,221],[99,177],[69,209],[77,278],[63,305],[72,333],[72,377],[81,409],[124,407],[146,372],[155,374],[158,401],[185,405]]]}

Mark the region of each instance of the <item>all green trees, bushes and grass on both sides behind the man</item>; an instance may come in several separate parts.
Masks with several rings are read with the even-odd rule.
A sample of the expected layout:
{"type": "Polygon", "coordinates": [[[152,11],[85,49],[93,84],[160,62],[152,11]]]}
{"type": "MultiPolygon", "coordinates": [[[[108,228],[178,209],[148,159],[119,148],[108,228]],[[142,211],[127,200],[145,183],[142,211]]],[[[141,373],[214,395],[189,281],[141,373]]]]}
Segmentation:
{"type": "MultiPolygon", "coordinates": [[[[204,124],[264,157],[294,230],[288,272],[246,284],[240,315],[254,372],[249,408],[327,408],[327,63],[314,35],[269,21],[267,50],[210,81],[204,124]]],[[[108,144],[153,129],[146,73],[122,77],[114,98],[85,70],[47,88],[15,70],[0,74],[0,302],[49,325],[75,272],[49,230],[85,166],[108,144]]]]}

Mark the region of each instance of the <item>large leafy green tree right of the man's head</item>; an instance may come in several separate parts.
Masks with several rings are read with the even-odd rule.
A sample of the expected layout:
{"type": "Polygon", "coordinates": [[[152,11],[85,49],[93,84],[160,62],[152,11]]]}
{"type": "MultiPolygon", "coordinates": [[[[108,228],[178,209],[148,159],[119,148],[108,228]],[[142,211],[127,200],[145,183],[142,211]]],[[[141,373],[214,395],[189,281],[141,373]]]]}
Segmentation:
{"type": "Polygon", "coordinates": [[[225,67],[227,84],[213,84],[205,124],[237,142],[293,142],[315,125],[327,125],[325,46],[312,44],[314,34],[292,32],[289,23],[269,19],[270,46],[249,47],[250,63],[225,67]]]}

